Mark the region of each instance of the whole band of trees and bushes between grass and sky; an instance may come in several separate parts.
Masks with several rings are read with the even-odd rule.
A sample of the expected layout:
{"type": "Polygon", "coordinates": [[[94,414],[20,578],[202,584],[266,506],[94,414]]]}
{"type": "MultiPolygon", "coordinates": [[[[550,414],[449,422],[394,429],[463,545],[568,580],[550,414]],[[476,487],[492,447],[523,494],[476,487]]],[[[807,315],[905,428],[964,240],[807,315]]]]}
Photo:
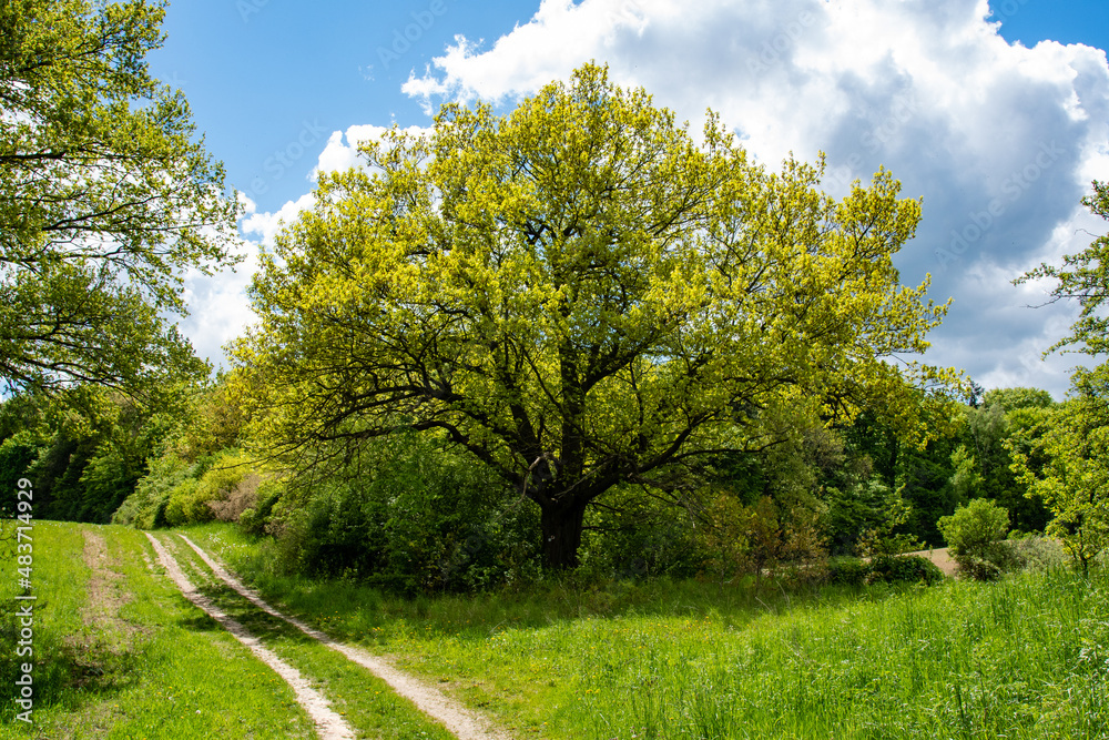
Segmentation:
{"type": "MultiPolygon", "coordinates": [[[[166,316],[237,207],[149,75],[163,12],[0,9],[0,478],[40,516],[236,521],[409,590],[761,578],[943,545],[976,500],[1105,549],[1102,367],[1057,404],[915,362],[949,302],[901,282],[922,209],[891,173],[833,199],[822,160],[770,171],[592,63],[321,175],[210,376],[166,316]]],[[[1105,351],[1106,249],[1021,278],[1080,302],[1059,348],[1105,351]]]]}

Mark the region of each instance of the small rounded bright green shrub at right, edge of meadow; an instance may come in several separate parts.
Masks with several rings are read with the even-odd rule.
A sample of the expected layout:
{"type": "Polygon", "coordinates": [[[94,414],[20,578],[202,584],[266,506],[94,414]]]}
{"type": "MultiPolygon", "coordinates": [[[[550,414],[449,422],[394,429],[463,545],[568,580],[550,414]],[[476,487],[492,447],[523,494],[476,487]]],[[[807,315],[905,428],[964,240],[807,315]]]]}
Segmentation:
{"type": "Polygon", "coordinates": [[[1005,541],[1009,514],[986,498],[959,506],[936,523],[947,540],[959,572],[976,580],[994,580],[1016,565],[1013,547],[1005,541]]]}

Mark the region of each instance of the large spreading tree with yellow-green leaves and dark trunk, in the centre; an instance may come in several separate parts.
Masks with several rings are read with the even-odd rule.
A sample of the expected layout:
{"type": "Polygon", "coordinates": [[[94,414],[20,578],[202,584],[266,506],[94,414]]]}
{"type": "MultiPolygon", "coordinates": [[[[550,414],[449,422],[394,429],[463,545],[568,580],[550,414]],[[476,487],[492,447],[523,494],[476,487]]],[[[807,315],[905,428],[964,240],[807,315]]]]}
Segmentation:
{"type": "Polygon", "coordinates": [[[820,168],[769,173],[712,114],[696,143],[592,64],[362,153],[251,290],[235,357],[274,453],[444,435],[540,507],[563,567],[591,501],[772,444],[775,407],[912,406],[888,361],[946,306],[899,284],[920,204],[888,172],[834,200],[820,168]]]}

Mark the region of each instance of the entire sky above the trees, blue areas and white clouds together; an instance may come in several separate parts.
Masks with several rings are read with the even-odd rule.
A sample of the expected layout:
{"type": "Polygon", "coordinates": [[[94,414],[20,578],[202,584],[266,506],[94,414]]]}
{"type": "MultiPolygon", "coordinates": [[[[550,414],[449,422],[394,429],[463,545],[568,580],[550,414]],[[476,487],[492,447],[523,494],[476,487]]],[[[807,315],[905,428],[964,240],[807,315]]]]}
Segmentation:
{"type": "MultiPolygon", "coordinates": [[[[924,197],[903,278],[955,298],[926,359],[1068,386],[1075,357],[1039,355],[1074,307],[1028,308],[1045,287],[1009,281],[1107,229],[1078,204],[1109,179],[1105,0],[177,0],[163,30],[153,73],[250,197],[248,253],[375,126],[455,99],[507,110],[596,59],[694,128],[711,105],[769,166],[826,152],[832,192],[889,168],[924,197]]],[[[190,280],[182,326],[213,361],[251,321],[250,271],[190,280]]]]}

